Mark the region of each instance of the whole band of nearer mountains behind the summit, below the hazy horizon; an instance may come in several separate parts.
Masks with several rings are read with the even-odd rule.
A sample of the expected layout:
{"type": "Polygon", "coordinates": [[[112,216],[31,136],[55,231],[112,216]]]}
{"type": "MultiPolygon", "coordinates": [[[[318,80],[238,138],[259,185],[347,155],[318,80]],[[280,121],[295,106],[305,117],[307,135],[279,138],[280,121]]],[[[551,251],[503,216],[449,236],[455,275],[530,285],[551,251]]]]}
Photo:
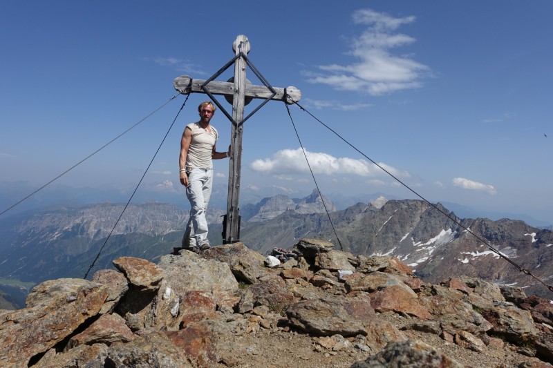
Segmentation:
{"type": "MultiPolygon", "coordinates": [[[[442,204],[420,200],[380,196],[338,211],[323,198],[325,205],[317,191],[301,199],[275,195],[244,206],[241,242],[267,254],[275,247],[288,249],[300,238],[318,238],[354,255],[395,256],[428,282],[467,275],[551,298],[551,291],[539,282],[547,283],[553,275],[550,230],[521,220],[463,219],[442,204]],[[531,271],[537,280],[489,246],[531,271]]],[[[188,219],[185,209],[162,203],[131,204],[114,227],[123,209],[123,204],[100,203],[1,219],[0,284],[10,290],[0,292],[11,295],[10,302],[17,307],[15,300],[21,296],[13,296],[14,287],[26,293],[44,280],[82,278],[92,269],[110,268],[111,261],[121,256],[158,260],[180,244],[188,219]]],[[[212,244],[221,244],[223,214],[221,209],[208,211],[212,244]]]]}

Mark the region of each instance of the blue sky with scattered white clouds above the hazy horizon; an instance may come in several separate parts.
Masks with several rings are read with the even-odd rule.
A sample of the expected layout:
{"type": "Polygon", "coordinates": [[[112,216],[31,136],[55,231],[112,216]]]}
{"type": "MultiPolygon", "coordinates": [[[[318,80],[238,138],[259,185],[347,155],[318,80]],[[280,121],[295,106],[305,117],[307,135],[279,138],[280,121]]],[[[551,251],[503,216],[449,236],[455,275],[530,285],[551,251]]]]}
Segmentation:
{"type": "MultiPolygon", "coordinates": [[[[553,223],[552,11],[545,0],[2,1],[0,181],[52,180],[173,97],[175,77],[211,77],[246,35],[272,86],[299,88],[310,113],[428,200],[553,223]]],[[[180,135],[205,99],[191,95],[144,182],[182,190],[180,135]]],[[[182,101],[58,182],[135,186],[182,101]]],[[[414,197],[290,111],[323,193],[414,197]]],[[[230,123],[218,112],[212,124],[223,151],[230,123]]],[[[279,101],[245,123],[242,166],[243,187],[315,188],[279,101]]],[[[215,169],[225,184],[228,161],[215,169]]]]}

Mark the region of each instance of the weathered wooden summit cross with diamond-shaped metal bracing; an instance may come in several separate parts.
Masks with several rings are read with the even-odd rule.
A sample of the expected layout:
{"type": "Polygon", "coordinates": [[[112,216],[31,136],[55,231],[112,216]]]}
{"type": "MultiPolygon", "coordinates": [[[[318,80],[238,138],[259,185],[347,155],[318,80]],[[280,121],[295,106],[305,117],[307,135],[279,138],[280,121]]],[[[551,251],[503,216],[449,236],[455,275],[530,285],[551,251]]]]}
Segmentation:
{"type": "Polygon", "coordinates": [[[227,196],[227,214],[223,217],[223,244],[240,241],[240,217],[238,215],[238,197],[240,190],[240,170],[242,164],[242,133],[243,124],[257,110],[272,99],[294,104],[301,99],[301,92],[295,87],[273,88],[263,78],[246,55],[250,52],[250,41],[244,35],[236,37],[232,43],[234,58],[207,80],[192,79],[187,75],[177,77],[173,85],[176,90],[186,95],[188,93],[206,93],[232,122],[232,144],[229,162],[229,188],[227,196]],[[229,66],[234,64],[234,78],[226,82],[214,81],[229,66]],[[263,82],[263,86],[254,86],[246,79],[246,66],[250,66],[254,74],[263,82]],[[214,95],[223,95],[232,104],[232,116],[219,104],[214,95]],[[244,117],[244,106],[252,99],[265,99],[255,110],[244,117]]]}

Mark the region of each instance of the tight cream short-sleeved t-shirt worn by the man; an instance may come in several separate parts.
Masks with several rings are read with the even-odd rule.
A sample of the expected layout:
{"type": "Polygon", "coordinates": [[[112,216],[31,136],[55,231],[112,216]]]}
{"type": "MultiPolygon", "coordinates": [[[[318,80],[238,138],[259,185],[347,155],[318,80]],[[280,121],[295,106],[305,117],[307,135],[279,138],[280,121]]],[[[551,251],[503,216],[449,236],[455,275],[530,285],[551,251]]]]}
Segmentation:
{"type": "Polygon", "coordinates": [[[186,126],[192,130],[192,140],[186,156],[187,168],[213,168],[212,151],[219,138],[217,130],[211,126],[207,132],[198,122],[186,126]]]}

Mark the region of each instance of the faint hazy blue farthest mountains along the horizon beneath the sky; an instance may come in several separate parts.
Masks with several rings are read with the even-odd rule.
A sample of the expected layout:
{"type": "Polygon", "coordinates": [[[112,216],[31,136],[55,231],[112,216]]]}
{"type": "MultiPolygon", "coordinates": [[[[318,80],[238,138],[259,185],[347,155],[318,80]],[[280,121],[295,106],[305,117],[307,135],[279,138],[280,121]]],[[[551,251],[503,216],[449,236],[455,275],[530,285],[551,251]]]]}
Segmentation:
{"type": "MultiPolygon", "coordinates": [[[[0,210],[4,211],[10,207],[8,215],[21,213],[31,209],[57,209],[60,206],[84,206],[86,204],[97,204],[102,202],[126,203],[133,194],[134,187],[131,186],[104,186],[99,188],[75,188],[73,186],[51,184],[40,191],[37,186],[28,182],[0,182],[0,210]],[[30,193],[35,193],[30,195],[30,193]],[[28,197],[26,200],[14,206],[18,201],[28,197]]],[[[285,195],[294,201],[301,201],[303,197],[309,196],[309,192],[297,191],[283,186],[267,186],[258,188],[256,186],[244,186],[240,192],[241,213],[243,217],[246,206],[256,206],[266,198],[285,195]]],[[[400,200],[403,198],[395,197],[387,193],[324,193],[332,201],[337,210],[344,210],[359,202],[368,203],[377,197],[384,196],[388,200],[400,200]]],[[[132,197],[133,203],[159,202],[169,203],[182,209],[187,209],[188,202],[184,190],[171,180],[142,184],[132,197]]],[[[553,229],[553,224],[538,220],[524,213],[506,213],[498,211],[486,211],[485,209],[473,209],[469,206],[453,202],[442,202],[450,211],[455,212],[462,218],[489,218],[490,220],[500,220],[510,218],[513,220],[523,220],[527,224],[542,229],[553,229]]],[[[209,206],[218,209],[227,208],[227,184],[214,185],[209,206]]]]}

